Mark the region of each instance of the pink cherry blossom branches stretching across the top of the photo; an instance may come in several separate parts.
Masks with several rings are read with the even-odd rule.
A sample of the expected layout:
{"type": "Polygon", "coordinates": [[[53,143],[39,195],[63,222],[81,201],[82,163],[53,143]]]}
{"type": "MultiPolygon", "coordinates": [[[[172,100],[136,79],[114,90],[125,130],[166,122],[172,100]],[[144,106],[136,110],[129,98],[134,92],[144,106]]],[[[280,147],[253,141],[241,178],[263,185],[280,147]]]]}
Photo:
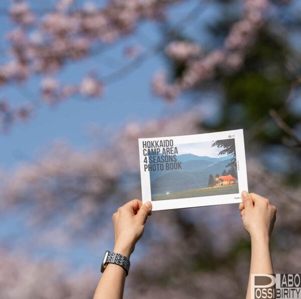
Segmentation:
{"type": "MultiPolygon", "coordinates": [[[[163,39],[149,49],[143,50],[139,45],[125,49],[124,53],[130,60],[107,76],[101,77],[91,71],[83,74],[77,84],[57,79],[57,74],[68,63],[84,60],[95,53],[101,54],[119,40],[134,34],[140,21],[166,23],[168,8],[177,2],[130,0],[125,4],[115,0],[98,8],[90,2],[78,7],[74,1],[60,0],[52,10],[41,13],[31,9],[26,1],[12,1],[8,14],[15,26],[7,33],[10,55],[0,66],[0,85],[24,85],[34,76],[39,76],[41,83],[35,98],[17,106],[12,105],[9,99],[2,100],[0,116],[3,127],[9,127],[16,120],[28,120],[40,101],[54,105],[77,94],[101,97],[106,83],[118,79],[120,73],[129,71],[154,51],[163,51],[185,66],[181,76],[171,83],[165,72],[154,76],[154,92],[171,101],[180,92],[194,88],[204,80],[214,79],[221,70],[229,73],[243,67],[258,30],[265,24],[265,15],[272,9],[267,0],[242,1],[242,17],[229,28],[221,48],[208,51],[197,41],[176,39],[168,42],[163,39]]],[[[192,13],[198,11],[198,7],[199,4],[192,13]]],[[[189,18],[190,14],[167,33],[181,28],[189,18]]]]}

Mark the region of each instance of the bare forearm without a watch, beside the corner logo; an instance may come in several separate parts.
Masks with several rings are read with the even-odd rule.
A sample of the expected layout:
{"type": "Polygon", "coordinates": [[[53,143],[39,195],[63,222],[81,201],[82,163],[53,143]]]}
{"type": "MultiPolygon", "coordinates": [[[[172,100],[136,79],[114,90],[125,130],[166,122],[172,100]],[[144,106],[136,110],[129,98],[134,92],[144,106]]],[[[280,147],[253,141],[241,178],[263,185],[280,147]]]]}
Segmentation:
{"type": "Polygon", "coordinates": [[[273,274],[268,236],[251,238],[251,265],[246,299],[251,298],[251,274],[273,274]]]}

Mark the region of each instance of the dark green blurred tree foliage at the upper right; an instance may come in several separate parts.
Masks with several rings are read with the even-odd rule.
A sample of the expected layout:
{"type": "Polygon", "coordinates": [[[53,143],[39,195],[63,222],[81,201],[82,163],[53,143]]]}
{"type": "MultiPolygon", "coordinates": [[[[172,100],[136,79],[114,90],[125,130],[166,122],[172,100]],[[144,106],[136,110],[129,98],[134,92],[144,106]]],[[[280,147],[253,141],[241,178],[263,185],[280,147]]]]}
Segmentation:
{"type": "MultiPolygon", "coordinates": [[[[207,27],[213,45],[216,40],[224,40],[229,34],[229,28],[237,22],[237,15],[227,14],[229,6],[233,5],[238,3],[220,1],[219,8],[225,12],[225,19],[207,27]]],[[[300,133],[296,133],[295,138],[289,136],[287,129],[289,127],[299,132],[298,73],[301,52],[289,43],[287,31],[294,28],[295,33],[299,29],[300,20],[289,19],[289,14],[284,16],[282,2],[274,2],[274,5],[279,14],[268,19],[257,32],[255,44],[248,49],[243,67],[230,73],[219,70],[216,79],[202,82],[194,88],[193,98],[195,93],[203,94],[208,90],[219,93],[221,112],[213,121],[208,118],[202,122],[202,127],[211,131],[243,128],[249,133],[246,136],[247,147],[262,155],[261,161],[268,169],[282,173],[286,183],[297,186],[301,179],[300,133]],[[278,22],[275,18],[279,18],[278,22]],[[288,141],[291,137],[293,140],[288,141]],[[277,167],[269,161],[269,153],[275,147],[280,152],[289,153],[286,165],[277,167]]],[[[179,40],[181,35],[175,36],[179,40]]],[[[185,40],[185,37],[182,35],[180,40],[185,40]]],[[[206,46],[210,49],[212,45],[206,46]]],[[[169,62],[171,74],[175,78],[181,77],[185,63],[170,58],[169,62]]],[[[198,101],[202,101],[201,96],[198,101]]]]}

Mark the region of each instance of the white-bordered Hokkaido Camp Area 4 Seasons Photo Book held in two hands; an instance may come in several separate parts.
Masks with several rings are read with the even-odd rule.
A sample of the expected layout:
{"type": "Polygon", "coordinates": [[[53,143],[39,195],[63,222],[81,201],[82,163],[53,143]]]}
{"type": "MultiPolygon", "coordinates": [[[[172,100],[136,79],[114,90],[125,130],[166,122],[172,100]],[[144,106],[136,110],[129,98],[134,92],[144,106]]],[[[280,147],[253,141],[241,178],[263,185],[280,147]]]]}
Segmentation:
{"type": "Polygon", "coordinates": [[[243,130],[139,138],[142,202],[153,211],[241,203],[243,130]]]}

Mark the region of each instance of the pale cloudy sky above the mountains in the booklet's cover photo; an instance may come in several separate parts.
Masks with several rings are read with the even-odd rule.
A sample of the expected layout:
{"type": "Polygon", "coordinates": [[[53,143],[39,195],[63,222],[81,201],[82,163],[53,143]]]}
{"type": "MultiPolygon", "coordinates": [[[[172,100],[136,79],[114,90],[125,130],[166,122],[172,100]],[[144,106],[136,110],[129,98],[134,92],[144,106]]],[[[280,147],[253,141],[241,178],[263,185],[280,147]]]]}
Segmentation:
{"type": "Polygon", "coordinates": [[[218,153],[222,148],[217,146],[211,146],[214,141],[205,141],[197,143],[177,144],[179,155],[182,154],[193,154],[197,156],[207,156],[210,158],[221,158],[227,155],[219,155],[218,153]]]}

